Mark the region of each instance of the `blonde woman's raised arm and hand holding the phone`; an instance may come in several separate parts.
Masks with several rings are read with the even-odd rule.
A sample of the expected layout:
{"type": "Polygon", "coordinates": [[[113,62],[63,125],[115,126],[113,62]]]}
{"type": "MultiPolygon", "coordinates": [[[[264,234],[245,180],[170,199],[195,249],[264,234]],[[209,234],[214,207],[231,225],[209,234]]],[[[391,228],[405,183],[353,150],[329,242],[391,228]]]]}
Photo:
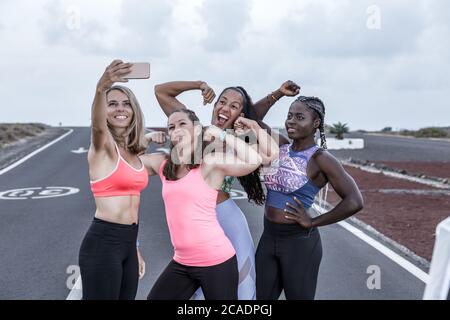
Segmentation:
{"type": "Polygon", "coordinates": [[[132,64],[114,60],[97,83],[91,108],[91,148],[98,151],[105,147],[110,137],[107,125],[106,91],[114,82],[128,82],[123,76],[130,72],[132,64]]]}

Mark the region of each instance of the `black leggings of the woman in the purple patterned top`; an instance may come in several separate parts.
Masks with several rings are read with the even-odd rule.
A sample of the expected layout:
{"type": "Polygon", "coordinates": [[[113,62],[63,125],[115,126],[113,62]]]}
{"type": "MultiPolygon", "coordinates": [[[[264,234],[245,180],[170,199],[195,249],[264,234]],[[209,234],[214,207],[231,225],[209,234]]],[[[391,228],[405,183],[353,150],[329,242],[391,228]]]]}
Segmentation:
{"type": "Polygon", "coordinates": [[[256,299],[276,300],[281,291],[288,300],[312,300],[322,260],[316,228],[279,224],[264,219],[256,250],[256,299]]]}

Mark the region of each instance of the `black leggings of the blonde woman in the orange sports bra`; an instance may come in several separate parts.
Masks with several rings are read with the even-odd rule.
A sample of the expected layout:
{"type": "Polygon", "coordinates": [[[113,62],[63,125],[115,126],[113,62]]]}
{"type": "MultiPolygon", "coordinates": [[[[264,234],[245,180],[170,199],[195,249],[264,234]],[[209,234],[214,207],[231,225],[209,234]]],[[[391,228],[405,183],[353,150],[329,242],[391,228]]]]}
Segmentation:
{"type": "Polygon", "coordinates": [[[79,265],[83,300],[133,300],[139,281],[138,226],[94,218],[83,239],[79,265]]]}

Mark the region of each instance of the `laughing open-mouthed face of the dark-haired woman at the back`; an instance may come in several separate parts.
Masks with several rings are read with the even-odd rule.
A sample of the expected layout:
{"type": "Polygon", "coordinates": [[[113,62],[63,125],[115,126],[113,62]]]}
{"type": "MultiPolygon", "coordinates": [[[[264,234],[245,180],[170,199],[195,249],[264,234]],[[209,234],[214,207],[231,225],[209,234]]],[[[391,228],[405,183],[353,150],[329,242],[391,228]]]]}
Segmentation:
{"type": "Polygon", "coordinates": [[[242,94],[228,89],[222,93],[214,105],[211,124],[220,129],[233,128],[234,121],[241,116],[244,109],[242,94]]]}

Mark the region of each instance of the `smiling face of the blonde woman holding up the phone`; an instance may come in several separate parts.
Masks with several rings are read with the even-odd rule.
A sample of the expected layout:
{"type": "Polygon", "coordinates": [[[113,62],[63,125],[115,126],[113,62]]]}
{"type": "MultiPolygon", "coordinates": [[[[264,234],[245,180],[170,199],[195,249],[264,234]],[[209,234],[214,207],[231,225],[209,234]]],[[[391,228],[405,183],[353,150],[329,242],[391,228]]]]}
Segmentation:
{"type": "Polygon", "coordinates": [[[119,90],[111,90],[106,100],[108,123],[117,129],[128,128],[134,114],[128,96],[119,90]]]}

